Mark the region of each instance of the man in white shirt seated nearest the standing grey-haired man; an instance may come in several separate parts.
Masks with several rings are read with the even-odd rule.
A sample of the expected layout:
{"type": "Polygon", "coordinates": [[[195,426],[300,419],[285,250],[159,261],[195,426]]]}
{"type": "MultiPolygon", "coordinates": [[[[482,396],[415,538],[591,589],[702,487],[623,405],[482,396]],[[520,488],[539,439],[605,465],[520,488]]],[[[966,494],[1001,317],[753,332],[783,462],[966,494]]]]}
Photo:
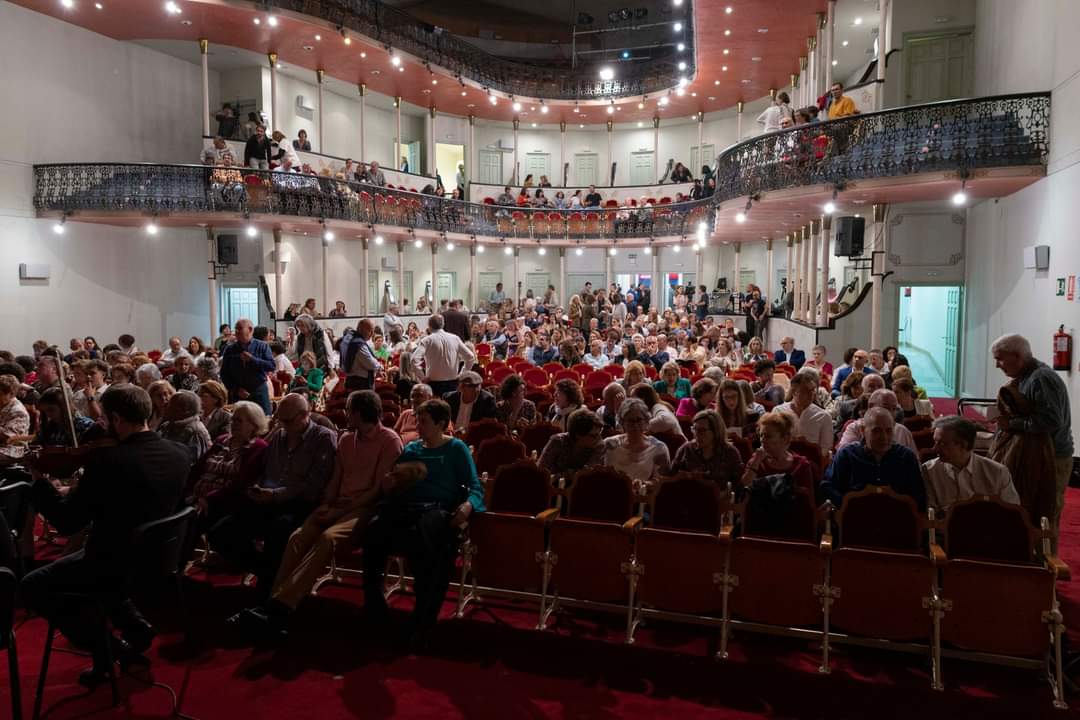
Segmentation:
{"type": "Polygon", "coordinates": [[[1007,503],[1020,504],[1009,468],[989,458],[975,454],[978,426],[957,416],[934,420],[934,450],[937,457],[922,464],[927,504],[939,516],[953,503],[975,495],[997,495],[1007,503]]]}

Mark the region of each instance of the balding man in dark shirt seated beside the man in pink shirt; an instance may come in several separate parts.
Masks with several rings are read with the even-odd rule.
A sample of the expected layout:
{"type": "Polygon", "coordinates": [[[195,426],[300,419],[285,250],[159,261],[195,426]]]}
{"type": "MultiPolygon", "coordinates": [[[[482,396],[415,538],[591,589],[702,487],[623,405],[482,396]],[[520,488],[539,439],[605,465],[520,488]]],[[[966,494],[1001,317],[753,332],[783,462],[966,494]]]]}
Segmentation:
{"type": "Polygon", "coordinates": [[[248,487],[237,511],[208,533],[211,546],[231,566],[255,573],[264,595],[270,592],[288,536],[319,503],[337,449],[337,433],[311,420],[301,395],[282,398],[274,422],[258,484],[248,487]]]}

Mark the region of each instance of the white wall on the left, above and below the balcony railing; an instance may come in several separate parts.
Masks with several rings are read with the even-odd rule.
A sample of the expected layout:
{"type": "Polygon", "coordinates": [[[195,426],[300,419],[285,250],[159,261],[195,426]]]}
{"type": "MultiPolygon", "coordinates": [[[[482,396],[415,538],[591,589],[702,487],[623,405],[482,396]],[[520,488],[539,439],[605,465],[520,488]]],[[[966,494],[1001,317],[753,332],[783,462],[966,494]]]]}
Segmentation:
{"type": "MultiPolygon", "coordinates": [[[[195,65],[117,42],[12,3],[0,3],[0,327],[26,353],[43,337],[140,345],[208,332],[206,241],[200,229],[157,237],[138,230],[53,220],[33,213],[32,163],[195,161],[202,81],[195,65]],[[27,58],[32,58],[28,64],[27,58]],[[48,263],[46,282],[18,280],[21,262],[48,263]]],[[[217,73],[211,83],[217,93],[217,73]]],[[[77,219],[77,218],[76,218],[77,219]]]]}

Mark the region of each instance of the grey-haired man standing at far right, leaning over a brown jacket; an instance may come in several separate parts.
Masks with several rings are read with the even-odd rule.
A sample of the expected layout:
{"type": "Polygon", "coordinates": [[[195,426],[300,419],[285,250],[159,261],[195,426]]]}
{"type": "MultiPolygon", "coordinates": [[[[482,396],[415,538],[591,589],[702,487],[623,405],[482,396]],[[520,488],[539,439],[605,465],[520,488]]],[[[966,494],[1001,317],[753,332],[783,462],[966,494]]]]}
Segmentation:
{"type": "MultiPolygon", "coordinates": [[[[1050,526],[1056,551],[1065,488],[1072,473],[1072,416],[1068,390],[1061,376],[1031,355],[1031,343],[1021,335],[1001,336],[990,345],[990,353],[997,367],[1012,379],[1031,408],[1030,415],[1001,415],[998,426],[1013,433],[1045,433],[1054,444],[1057,502],[1050,526]]],[[[1038,521],[1037,518],[1031,519],[1038,521]]]]}

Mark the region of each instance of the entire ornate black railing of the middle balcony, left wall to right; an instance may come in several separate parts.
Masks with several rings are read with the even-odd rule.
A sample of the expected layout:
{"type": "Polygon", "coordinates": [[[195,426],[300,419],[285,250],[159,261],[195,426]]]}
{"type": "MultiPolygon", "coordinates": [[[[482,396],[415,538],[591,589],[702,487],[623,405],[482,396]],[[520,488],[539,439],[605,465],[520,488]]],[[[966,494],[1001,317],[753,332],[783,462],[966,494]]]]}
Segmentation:
{"type": "MultiPolygon", "coordinates": [[[[1043,165],[1050,95],[936,103],[804,125],[740,142],[717,159],[716,192],[686,203],[556,210],[446,200],[403,188],[240,167],[35,166],[41,212],[260,213],[526,240],[692,235],[716,204],[787,188],[983,167],[1043,165]]],[[[603,189],[602,189],[603,192],[603,189]]]]}

